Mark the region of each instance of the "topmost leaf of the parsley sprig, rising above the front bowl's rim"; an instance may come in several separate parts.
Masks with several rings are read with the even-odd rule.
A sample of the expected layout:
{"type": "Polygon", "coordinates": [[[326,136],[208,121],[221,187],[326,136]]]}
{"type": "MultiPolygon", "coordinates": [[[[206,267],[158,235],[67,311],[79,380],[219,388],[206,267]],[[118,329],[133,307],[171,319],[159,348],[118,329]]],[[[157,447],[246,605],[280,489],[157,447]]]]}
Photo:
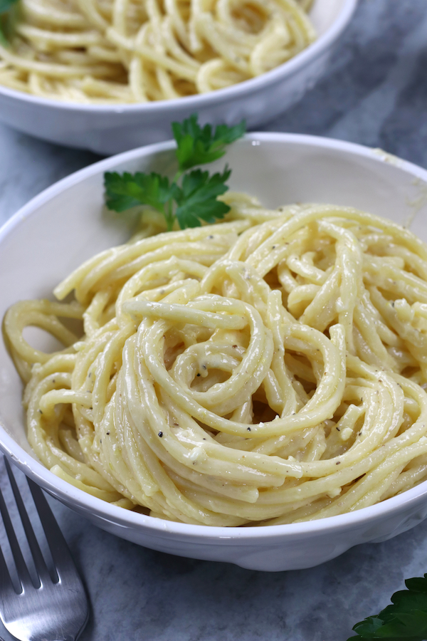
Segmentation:
{"type": "Polygon", "coordinates": [[[226,145],[241,138],[246,131],[244,120],[235,127],[218,125],[213,133],[211,125],[200,127],[197,115],[193,114],[183,123],[172,123],[176,140],[176,158],[181,172],[214,162],[225,154],[226,145]]]}

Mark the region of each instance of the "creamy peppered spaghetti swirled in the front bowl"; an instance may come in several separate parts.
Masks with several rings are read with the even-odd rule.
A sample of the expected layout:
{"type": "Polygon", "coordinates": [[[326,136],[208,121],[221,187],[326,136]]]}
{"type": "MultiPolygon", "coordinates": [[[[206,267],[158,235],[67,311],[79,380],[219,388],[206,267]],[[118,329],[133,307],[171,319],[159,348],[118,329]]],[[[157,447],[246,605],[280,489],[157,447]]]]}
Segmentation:
{"type": "Polygon", "coordinates": [[[426,244],[356,209],[223,199],[226,222],[154,233],[153,216],[60,283],[75,301],[6,313],[41,462],[210,526],[333,516],[426,479],[426,244]],[[29,325],[64,350],[31,347],[29,325]]]}

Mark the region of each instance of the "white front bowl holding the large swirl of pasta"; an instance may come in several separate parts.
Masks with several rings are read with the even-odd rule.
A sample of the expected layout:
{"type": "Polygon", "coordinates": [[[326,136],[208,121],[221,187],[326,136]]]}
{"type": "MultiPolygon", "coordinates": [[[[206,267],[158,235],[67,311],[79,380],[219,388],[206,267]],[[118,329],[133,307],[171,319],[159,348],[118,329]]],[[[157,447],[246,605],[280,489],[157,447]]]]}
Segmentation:
{"type": "MultiPolygon", "coordinates": [[[[63,179],[21,209],[0,231],[0,316],[23,298],[51,297],[82,261],[128,235],[119,217],[102,214],[105,171],[172,168],[172,142],[126,152],[63,179]]],[[[333,202],[364,209],[427,241],[427,172],[348,142],[304,135],[251,134],[226,157],[233,189],[268,207],[333,202]]],[[[218,162],[217,167],[223,163],[218,162]]],[[[97,526],[179,556],[227,561],[257,570],[315,566],[359,543],[384,541],[426,518],[427,482],[381,504],[317,521],[221,528],[162,521],[85,494],[43,467],[26,439],[21,382],[0,345],[0,448],[52,496],[97,526]]]]}

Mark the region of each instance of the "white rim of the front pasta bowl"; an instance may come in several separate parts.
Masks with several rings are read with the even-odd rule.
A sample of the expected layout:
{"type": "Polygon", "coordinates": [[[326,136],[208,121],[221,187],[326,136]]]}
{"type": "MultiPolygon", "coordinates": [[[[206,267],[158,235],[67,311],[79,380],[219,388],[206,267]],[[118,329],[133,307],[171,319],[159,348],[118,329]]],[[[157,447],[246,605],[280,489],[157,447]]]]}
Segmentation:
{"type": "MultiPolygon", "coordinates": [[[[368,157],[374,162],[391,162],[400,170],[423,180],[427,184],[427,170],[418,165],[402,160],[400,158],[386,154],[382,150],[371,149],[363,145],[357,145],[354,142],[343,140],[334,140],[327,137],[319,137],[305,134],[290,134],[282,132],[253,132],[246,134],[243,141],[237,141],[236,145],[241,142],[280,142],[294,145],[310,145],[320,147],[324,150],[335,150],[345,154],[357,157],[368,157]]],[[[86,179],[101,174],[106,170],[112,170],[122,162],[128,162],[137,158],[143,158],[150,155],[172,150],[175,146],[174,140],[159,142],[154,145],[139,147],[135,150],[123,152],[115,156],[95,162],[93,165],[84,167],[78,172],[70,174],[68,177],[51,185],[43,190],[36,197],[33,197],[27,204],[19,209],[6,223],[0,228],[0,247],[6,236],[13,231],[16,226],[24,224],[28,217],[36,216],[38,209],[43,204],[58,196],[61,192],[72,187],[79,182],[85,182],[86,179]]],[[[402,494],[386,499],[379,504],[368,506],[357,511],[337,516],[327,516],[315,521],[305,521],[303,523],[286,523],[283,525],[273,526],[244,526],[244,527],[226,527],[226,526],[206,526],[195,525],[191,523],[179,523],[176,521],[166,521],[161,518],[146,516],[134,511],[125,510],[97,499],[83,490],[69,484],[67,481],[55,476],[49,469],[43,466],[36,459],[31,457],[9,434],[6,424],[0,414],[0,450],[16,463],[16,465],[33,481],[36,481],[49,494],[76,509],[80,513],[90,512],[101,518],[103,521],[114,523],[115,525],[125,528],[151,532],[153,535],[160,537],[181,537],[192,538],[194,541],[209,543],[209,539],[215,539],[216,542],[221,540],[228,541],[253,541],[263,540],[268,544],[274,543],[277,538],[286,537],[300,538],[301,536],[311,537],[316,533],[328,533],[329,531],[345,531],[351,529],[354,525],[362,525],[377,521],[385,516],[391,516],[394,512],[399,511],[404,504],[418,504],[427,496],[427,481],[406,490],[402,494]]]]}

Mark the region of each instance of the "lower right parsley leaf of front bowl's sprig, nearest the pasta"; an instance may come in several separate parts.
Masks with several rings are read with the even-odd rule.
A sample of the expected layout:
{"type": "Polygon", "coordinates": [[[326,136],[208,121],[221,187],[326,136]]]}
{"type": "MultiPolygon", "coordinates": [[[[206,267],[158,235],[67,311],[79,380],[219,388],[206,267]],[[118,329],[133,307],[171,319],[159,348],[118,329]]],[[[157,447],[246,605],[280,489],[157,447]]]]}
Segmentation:
{"type": "Polygon", "coordinates": [[[182,187],[174,184],[174,199],[178,205],[176,218],[181,229],[198,227],[201,221],[214,223],[215,219],[223,218],[230,207],[216,199],[227,191],[226,180],[231,171],[225,168],[223,174],[209,176],[209,172],[195,170],[185,174],[182,187]]]}

